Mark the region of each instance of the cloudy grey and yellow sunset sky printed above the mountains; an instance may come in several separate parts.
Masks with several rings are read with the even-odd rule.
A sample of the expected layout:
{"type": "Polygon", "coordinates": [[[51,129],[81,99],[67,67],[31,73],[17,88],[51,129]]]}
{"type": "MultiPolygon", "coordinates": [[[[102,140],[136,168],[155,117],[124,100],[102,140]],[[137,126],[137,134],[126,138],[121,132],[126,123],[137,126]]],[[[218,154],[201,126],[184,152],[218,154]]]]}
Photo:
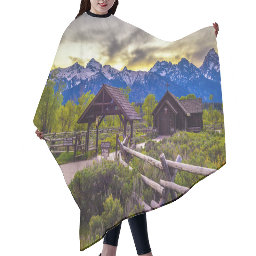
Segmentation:
{"type": "Polygon", "coordinates": [[[102,66],[108,64],[118,70],[126,66],[134,71],[148,71],[157,60],[177,64],[186,58],[199,67],[210,49],[218,53],[214,31],[213,27],[202,28],[180,40],[167,42],[114,15],[96,18],[84,13],[65,30],[53,65],[66,68],[77,61],[86,67],[94,58],[102,66]]]}

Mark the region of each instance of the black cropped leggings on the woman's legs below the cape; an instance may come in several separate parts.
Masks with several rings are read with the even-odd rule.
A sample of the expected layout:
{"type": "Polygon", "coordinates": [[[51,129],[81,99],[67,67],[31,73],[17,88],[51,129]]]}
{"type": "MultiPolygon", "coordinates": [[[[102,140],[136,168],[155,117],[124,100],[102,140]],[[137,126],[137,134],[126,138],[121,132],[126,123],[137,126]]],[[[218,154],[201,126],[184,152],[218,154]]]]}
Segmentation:
{"type": "MultiPolygon", "coordinates": [[[[132,218],[128,218],[128,222],[132,231],[132,237],[138,255],[151,252],[151,248],[148,241],[146,212],[135,215],[132,218]]],[[[106,236],[104,236],[103,244],[117,246],[121,224],[122,222],[115,228],[112,228],[107,231],[106,236]]]]}

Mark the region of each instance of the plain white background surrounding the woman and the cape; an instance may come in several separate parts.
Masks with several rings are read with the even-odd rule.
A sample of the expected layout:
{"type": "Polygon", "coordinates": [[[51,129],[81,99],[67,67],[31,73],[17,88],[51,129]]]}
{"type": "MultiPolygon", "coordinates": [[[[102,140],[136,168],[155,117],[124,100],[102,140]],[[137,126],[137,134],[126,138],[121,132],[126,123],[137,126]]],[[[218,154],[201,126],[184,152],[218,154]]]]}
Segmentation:
{"type": "MultiPolygon", "coordinates": [[[[255,41],[252,1],[119,0],[116,17],[166,41],[219,24],[227,164],[147,213],[158,255],[255,255],[255,41]]],[[[80,252],[80,211],[33,118],[60,38],[80,0],[1,2],[0,255],[80,252]]],[[[128,220],[116,255],[137,255],[128,220]]]]}

